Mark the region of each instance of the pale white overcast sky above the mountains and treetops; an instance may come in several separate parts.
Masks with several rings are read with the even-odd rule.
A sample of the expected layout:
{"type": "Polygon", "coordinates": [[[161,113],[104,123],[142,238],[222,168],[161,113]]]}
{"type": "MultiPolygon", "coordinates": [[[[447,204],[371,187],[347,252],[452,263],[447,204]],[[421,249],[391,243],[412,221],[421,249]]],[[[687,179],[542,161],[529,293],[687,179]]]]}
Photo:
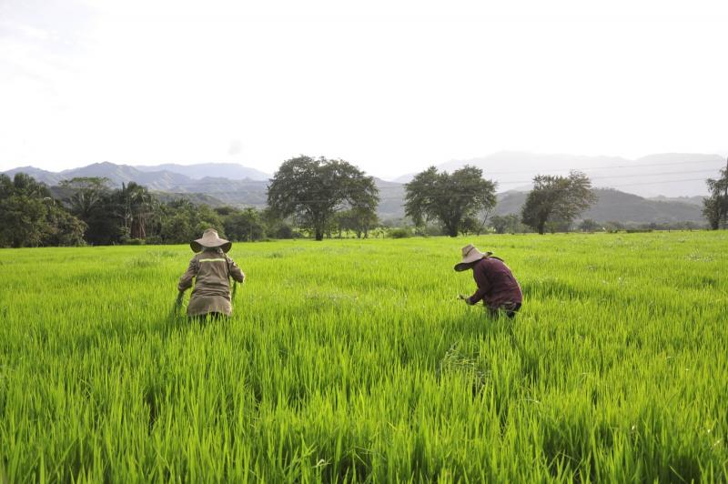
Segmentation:
{"type": "Polygon", "coordinates": [[[724,154],[723,5],[0,0],[0,170],[724,154]]]}

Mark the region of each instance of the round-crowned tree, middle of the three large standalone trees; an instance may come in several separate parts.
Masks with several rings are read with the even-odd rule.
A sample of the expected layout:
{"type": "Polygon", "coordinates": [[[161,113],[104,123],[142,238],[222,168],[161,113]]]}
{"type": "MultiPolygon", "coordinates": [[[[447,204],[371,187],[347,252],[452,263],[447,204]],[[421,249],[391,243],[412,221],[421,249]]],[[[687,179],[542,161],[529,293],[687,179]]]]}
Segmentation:
{"type": "Polygon", "coordinates": [[[449,174],[430,166],[405,185],[405,214],[417,227],[436,220],[450,237],[472,228],[480,211],[495,207],[493,181],[482,177],[476,166],[464,166],[449,174]]]}

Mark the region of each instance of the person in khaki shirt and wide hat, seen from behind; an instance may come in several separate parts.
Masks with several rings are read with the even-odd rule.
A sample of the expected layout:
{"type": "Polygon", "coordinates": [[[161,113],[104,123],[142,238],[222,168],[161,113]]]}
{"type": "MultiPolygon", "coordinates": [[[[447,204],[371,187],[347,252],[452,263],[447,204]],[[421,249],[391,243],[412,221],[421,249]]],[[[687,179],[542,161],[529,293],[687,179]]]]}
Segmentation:
{"type": "Polygon", "coordinates": [[[240,267],[227,257],[227,251],[232,243],[217,236],[217,230],[208,228],[202,238],[193,240],[189,247],[197,252],[189,261],[187,272],[179,277],[179,294],[177,303],[181,304],[185,291],[192,287],[195,278],[195,288],[189,297],[187,316],[212,318],[230,316],[232,304],[230,303],[230,279],[243,282],[245,274],[240,267]]]}

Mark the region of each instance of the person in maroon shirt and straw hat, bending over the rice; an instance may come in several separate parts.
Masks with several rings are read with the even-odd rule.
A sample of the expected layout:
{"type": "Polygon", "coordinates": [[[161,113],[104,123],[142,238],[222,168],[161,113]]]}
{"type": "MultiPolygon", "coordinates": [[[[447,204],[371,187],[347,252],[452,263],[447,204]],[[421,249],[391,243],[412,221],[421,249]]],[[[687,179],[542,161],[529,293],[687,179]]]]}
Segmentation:
{"type": "Polygon", "coordinates": [[[455,266],[455,270],[472,269],[478,290],[470,297],[460,295],[460,299],[471,306],[482,300],[491,316],[498,316],[502,311],[513,318],[523,302],[521,287],[503,260],[490,254],[483,254],[472,244],[462,247],[462,261],[455,266]]]}

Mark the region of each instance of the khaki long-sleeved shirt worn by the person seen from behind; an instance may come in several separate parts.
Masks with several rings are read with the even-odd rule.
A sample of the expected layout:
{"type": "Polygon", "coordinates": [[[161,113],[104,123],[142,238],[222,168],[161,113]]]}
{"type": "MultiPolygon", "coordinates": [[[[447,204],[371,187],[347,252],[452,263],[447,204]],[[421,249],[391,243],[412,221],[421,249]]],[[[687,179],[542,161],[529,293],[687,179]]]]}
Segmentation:
{"type": "Polygon", "coordinates": [[[245,274],[233,259],[217,248],[207,248],[189,261],[187,272],[179,277],[177,288],[186,291],[195,288],[189,298],[187,314],[199,316],[207,313],[232,314],[230,303],[230,277],[238,282],[245,280],[245,274]]]}

